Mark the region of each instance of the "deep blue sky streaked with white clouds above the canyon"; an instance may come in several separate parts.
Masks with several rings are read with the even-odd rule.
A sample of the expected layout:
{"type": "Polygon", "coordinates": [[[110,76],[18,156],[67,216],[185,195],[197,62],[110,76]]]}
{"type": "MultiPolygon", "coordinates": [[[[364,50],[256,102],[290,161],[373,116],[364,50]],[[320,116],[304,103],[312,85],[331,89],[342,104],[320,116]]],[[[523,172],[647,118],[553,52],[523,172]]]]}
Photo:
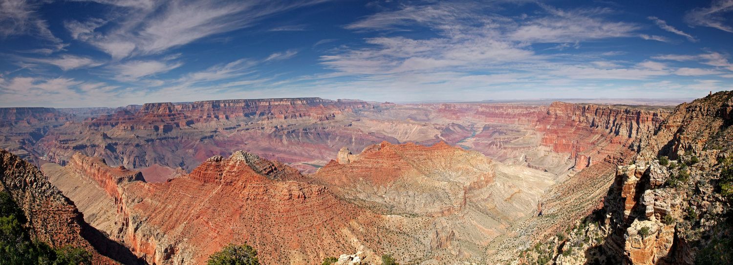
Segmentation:
{"type": "Polygon", "coordinates": [[[699,98],[733,0],[0,0],[0,106],[699,98]]]}

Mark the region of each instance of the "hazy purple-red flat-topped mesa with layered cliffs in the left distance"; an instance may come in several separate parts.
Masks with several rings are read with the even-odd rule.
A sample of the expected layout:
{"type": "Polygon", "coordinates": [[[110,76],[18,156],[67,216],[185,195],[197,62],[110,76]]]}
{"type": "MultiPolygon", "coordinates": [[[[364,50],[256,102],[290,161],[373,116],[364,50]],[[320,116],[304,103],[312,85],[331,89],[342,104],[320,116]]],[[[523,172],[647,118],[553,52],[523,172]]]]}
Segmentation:
{"type": "Polygon", "coordinates": [[[349,128],[345,116],[370,107],[321,98],[144,104],[55,128],[36,149],[59,164],[81,152],[128,168],[158,164],[190,171],[210,156],[228,156],[232,147],[284,162],[325,164],[324,153],[312,150],[394,139],[349,128]]]}

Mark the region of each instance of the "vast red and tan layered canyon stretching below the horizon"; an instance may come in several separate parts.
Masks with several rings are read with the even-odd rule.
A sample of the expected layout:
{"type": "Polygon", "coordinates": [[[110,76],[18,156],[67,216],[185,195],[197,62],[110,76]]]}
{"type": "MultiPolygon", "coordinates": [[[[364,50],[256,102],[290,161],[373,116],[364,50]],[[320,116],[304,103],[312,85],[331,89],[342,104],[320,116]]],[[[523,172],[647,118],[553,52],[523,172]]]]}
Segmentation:
{"type": "Polygon", "coordinates": [[[721,170],[730,98],[2,108],[0,132],[1,148],[40,167],[81,224],[147,264],[202,264],[232,242],[265,264],[357,252],[373,264],[386,253],[405,264],[692,264],[699,234],[661,220],[725,200],[712,184],[700,185],[707,197],[672,198],[664,183],[679,169],[658,157],[699,157],[695,181],[721,170]],[[572,241],[581,225],[600,242],[572,241]],[[537,244],[547,248],[530,251],[537,244]]]}

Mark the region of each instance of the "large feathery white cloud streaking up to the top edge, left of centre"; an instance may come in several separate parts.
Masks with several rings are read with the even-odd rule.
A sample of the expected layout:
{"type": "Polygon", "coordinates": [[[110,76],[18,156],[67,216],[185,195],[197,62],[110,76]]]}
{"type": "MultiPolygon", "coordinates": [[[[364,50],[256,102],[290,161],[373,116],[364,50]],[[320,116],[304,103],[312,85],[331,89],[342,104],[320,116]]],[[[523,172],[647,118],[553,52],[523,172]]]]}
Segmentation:
{"type": "Polygon", "coordinates": [[[122,59],[133,54],[158,54],[202,37],[254,25],[270,15],[317,4],[310,1],[99,1],[119,7],[111,29],[97,31],[100,18],[70,21],[67,29],[77,40],[122,59]]]}

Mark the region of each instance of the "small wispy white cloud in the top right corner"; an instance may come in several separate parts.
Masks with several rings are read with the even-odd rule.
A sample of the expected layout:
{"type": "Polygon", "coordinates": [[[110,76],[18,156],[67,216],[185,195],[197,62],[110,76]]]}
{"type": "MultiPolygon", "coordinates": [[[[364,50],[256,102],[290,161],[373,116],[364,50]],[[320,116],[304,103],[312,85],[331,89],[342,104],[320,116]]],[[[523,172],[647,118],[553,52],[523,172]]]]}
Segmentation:
{"type": "Polygon", "coordinates": [[[733,0],[714,0],[710,7],[701,7],[691,10],[685,15],[685,21],[693,26],[710,26],[733,33],[733,26],[729,23],[733,11],[733,0]]]}

